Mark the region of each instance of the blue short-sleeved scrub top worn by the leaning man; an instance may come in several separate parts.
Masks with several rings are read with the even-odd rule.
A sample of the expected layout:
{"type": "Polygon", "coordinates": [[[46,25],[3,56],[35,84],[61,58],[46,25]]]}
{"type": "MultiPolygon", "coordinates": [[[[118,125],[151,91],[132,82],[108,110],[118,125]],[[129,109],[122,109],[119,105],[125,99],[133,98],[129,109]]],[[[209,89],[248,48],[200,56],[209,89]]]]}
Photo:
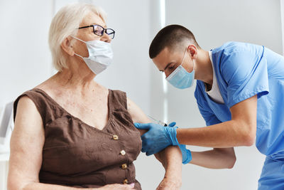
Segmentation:
{"type": "Polygon", "coordinates": [[[283,56],[263,46],[228,42],[212,50],[212,60],[224,104],[214,102],[197,80],[195,98],[206,124],[231,120],[230,107],[257,95],[256,147],[262,154],[283,154],[283,56]]]}

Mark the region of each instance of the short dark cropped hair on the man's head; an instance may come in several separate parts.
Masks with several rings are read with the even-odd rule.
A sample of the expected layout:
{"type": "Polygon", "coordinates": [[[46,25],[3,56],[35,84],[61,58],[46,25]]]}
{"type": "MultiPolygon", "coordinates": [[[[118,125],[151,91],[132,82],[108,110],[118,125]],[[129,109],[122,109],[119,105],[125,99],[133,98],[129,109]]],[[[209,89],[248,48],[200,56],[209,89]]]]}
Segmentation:
{"type": "Polygon", "coordinates": [[[200,48],[193,33],[184,26],[178,24],[165,26],[153,39],[149,48],[149,56],[151,59],[155,58],[165,47],[173,50],[185,40],[191,41],[197,48],[200,48]]]}

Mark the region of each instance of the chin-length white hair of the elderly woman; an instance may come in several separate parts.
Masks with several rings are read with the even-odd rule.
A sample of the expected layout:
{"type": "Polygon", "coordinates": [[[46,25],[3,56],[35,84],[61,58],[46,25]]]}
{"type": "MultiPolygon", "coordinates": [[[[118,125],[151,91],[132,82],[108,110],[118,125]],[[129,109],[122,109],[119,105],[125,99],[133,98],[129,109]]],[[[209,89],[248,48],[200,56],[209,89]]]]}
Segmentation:
{"type": "Polygon", "coordinates": [[[68,68],[66,57],[61,48],[62,41],[68,36],[75,36],[84,16],[93,12],[105,22],[106,14],[99,6],[75,3],[63,6],[53,17],[50,24],[48,43],[53,56],[53,65],[56,70],[68,68]]]}

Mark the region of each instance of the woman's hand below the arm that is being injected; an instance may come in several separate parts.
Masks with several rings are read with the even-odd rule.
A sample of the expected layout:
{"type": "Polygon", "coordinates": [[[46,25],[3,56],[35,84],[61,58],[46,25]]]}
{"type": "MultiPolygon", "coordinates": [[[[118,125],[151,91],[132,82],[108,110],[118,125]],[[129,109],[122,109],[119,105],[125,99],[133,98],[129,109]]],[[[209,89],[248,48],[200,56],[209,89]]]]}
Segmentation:
{"type": "Polygon", "coordinates": [[[181,178],[165,176],[156,190],[179,190],[182,186],[181,178]]]}

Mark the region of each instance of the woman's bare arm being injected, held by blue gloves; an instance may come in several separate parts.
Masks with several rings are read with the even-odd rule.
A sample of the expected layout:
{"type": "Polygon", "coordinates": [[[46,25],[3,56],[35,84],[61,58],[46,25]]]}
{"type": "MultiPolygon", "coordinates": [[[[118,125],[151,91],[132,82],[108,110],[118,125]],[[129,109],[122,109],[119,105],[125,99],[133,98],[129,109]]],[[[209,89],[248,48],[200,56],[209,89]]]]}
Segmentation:
{"type": "MultiPolygon", "coordinates": [[[[127,99],[127,106],[133,122],[151,122],[151,120],[149,120],[140,107],[138,107],[129,98],[127,99]]],[[[146,130],[141,130],[141,134],[145,132],[146,130]]],[[[163,164],[163,167],[165,168],[165,178],[161,182],[158,189],[179,189],[182,178],[182,154],[180,152],[180,148],[178,146],[167,147],[158,154],[155,154],[155,157],[163,164]]]]}

